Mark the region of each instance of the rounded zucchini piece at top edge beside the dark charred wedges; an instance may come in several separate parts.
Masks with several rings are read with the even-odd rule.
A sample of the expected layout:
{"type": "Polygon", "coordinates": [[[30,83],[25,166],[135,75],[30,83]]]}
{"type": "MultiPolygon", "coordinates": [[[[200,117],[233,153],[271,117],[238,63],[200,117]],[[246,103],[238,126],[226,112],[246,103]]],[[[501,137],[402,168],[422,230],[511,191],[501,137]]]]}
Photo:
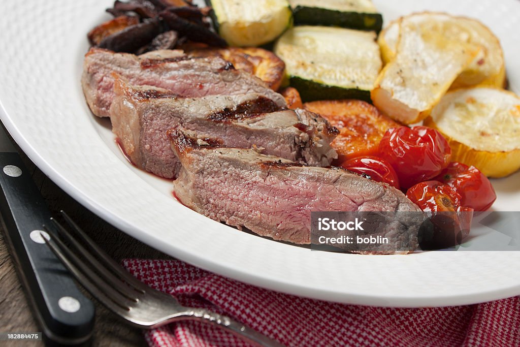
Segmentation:
{"type": "Polygon", "coordinates": [[[206,0],[215,29],[230,46],[260,46],[280,36],[292,22],[287,0],[206,0]]]}

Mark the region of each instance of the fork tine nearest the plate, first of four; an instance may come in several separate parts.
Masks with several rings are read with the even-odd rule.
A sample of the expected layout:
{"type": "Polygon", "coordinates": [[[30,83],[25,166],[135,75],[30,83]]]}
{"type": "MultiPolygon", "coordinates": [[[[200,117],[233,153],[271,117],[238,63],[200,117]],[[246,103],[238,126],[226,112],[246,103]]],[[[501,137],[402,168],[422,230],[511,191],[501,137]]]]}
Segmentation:
{"type": "MultiPolygon", "coordinates": [[[[146,285],[128,273],[124,267],[116,263],[105,251],[96,245],[96,242],[88,237],[87,234],[85,234],[85,232],[71,219],[71,217],[69,217],[67,213],[65,213],[63,210],[61,210],[60,213],[65,221],[70,225],[70,227],[74,229],[76,235],[83,239],[90,251],[99,256],[99,260],[104,263],[104,266],[102,266],[103,268],[109,268],[112,273],[123,279],[125,282],[127,282],[127,284],[131,285],[141,293],[145,293],[147,288],[146,285]]],[[[64,228],[56,220],[53,220],[53,222],[57,224],[60,230],[64,230],[64,228]]]]}

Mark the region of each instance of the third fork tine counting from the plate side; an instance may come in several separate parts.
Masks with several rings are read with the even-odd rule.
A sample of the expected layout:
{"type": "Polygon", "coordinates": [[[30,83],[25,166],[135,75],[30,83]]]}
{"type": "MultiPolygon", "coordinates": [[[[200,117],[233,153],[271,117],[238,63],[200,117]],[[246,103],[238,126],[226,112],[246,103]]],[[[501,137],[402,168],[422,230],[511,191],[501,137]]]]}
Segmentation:
{"type": "MultiPolygon", "coordinates": [[[[44,226],[47,233],[51,233],[50,230],[44,226]]],[[[49,234],[50,235],[50,234],[49,234]]],[[[46,239],[45,239],[46,240],[46,239]]],[[[65,244],[57,237],[52,237],[50,240],[46,240],[47,245],[53,250],[58,258],[60,258],[70,271],[74,274],[77,280],[84,284],[85,280],[88,280],[89,285],[84,287],[97,288],[99,292],[102,292],[105,297],[110,299],[114,304],[120,306],[122,309],[128,311],[129,306],[132,304],[128,299],[124,298],[118,291],[114,290],[107,282],[103,281],[89,266],[87,266],[81,259],[65,246],[65,244]],[[48,241],[48,242],[47,242],[48,241]]],[[[94,295],[94,294],[93,294],[94,295]]]]}

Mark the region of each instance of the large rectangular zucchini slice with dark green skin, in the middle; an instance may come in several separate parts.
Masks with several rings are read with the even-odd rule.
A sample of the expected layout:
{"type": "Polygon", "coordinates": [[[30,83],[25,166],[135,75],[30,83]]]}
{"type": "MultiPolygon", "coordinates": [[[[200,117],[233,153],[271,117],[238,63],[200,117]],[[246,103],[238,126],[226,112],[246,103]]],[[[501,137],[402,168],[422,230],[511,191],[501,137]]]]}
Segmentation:
{"type": "Polygon", "coordinates": [[[375,33],[333,27],[294,27],[275,45],[303,101],[361,99],[381,70],[375,33]]]}

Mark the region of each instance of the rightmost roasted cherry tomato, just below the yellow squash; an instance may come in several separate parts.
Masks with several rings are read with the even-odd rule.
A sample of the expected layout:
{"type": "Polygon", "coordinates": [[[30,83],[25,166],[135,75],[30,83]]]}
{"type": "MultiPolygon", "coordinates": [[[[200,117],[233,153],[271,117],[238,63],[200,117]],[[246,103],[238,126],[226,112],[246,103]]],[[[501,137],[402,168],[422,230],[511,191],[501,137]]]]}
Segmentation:
{"type": "Polygon", "coordinates": [[[497,199],[491,182],[475,166],[451,162],[435,180],[455,188],[462,205],[475,211],[486,211],[497,199]]]}

